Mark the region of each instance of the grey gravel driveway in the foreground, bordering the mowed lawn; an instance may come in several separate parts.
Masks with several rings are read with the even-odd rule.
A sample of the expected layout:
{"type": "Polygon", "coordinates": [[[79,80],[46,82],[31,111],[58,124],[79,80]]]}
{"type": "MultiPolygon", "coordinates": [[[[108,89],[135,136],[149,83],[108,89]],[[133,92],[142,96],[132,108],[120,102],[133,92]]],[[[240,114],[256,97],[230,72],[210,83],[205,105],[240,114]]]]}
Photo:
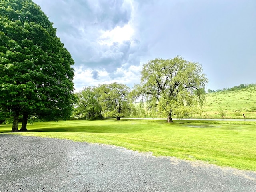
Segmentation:
{"type": "Polygon", "coordinates": [[[124,148],[0,134],[1,192],[255,192],[256,172],[124,148]]]}

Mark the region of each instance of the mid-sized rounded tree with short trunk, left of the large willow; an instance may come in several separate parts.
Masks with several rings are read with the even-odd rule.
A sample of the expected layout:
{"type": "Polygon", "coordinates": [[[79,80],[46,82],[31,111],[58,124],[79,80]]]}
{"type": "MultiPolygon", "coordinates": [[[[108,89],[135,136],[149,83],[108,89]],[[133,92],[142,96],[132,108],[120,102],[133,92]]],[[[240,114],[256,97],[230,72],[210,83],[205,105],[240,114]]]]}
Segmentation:
{"type": "Polygon", "coordinates": [[[130,88],[124,84],[103,84],[98,87],[99,101],[104,116],[115,116],[116,120],[124,115],[124,111],[130,109],[130,88]]]}

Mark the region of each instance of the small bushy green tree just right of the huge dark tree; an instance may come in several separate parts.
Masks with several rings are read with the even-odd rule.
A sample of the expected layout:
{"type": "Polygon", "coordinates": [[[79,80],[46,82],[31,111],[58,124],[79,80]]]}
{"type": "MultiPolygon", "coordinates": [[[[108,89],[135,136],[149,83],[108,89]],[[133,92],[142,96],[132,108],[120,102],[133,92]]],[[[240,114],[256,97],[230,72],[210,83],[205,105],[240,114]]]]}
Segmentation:
{"type": "Polygon", "coordinates": [[[102,108],[98,101],[99,93],[96,87],[87,87],[76,93],[77,104],[73,116],[86,119],[102,118],[102,108]]]}

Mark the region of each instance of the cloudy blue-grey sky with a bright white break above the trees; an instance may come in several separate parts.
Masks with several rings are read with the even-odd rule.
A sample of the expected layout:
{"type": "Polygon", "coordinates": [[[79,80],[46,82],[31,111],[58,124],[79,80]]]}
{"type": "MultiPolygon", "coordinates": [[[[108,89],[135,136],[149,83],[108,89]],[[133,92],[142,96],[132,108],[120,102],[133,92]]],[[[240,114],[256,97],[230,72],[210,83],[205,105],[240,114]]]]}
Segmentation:
{"type": "Polygon", "coordinates": [[[256,0],[33,0],[74,59],[75,92],[140,84],[143,64],[198,62],[206,90],[256,83],[256,0]]]}

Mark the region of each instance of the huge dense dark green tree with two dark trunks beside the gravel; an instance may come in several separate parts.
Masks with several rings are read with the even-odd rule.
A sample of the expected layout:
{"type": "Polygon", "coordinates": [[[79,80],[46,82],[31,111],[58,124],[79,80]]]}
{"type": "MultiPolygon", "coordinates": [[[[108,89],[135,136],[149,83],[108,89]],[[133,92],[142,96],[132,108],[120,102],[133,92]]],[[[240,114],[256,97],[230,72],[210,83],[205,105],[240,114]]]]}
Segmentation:
{"type": "Polygon", "coordinates": [[[12,132],[29,114],[70,116],[74,61],[56,29],[32,0],[0,1],[0,106],[13,114],[12,132]]]}

